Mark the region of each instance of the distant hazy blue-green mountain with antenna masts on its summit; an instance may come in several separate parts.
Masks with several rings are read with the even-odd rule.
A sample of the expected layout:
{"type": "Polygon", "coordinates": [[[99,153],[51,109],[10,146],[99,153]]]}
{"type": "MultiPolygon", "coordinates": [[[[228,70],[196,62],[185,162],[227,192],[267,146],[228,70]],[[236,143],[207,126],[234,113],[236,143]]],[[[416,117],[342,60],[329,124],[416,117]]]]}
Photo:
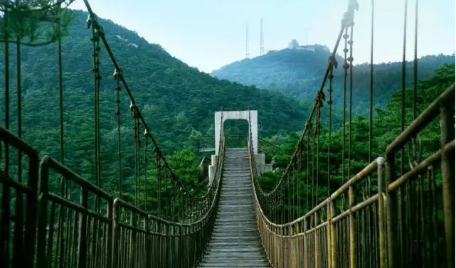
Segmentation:
{"type": "MultiPolygon", "coordinates": [[[[214,77],[240,82],[244,85],[257,85],[288,95],[314,97],[314,92],[322,83],[327,67],[329,52],[324,49],[271,51],[253,59],[244,59],[214,70],[214,77]]],[[[356,58],[356,55],[355,55],[356,58]]],[[[334,70],[335,105],[343,102],[344,59],[337,55],[339,68],[334,70]]],[[[418,79],[432,75],[444,63],[455,63],[455,55],[428,55],[418,60],[418,79]]],[[[384,107],[396,90],[401,88],[402,63],[381,63],[373,66],[373,100],[375,107],[384,107]]],[[[353,69],[354,112],[365,114],[369,103],[370,65],[354,65],[353,69]]],[[[349,82],[347,82],[347,100],[349,82]]],[[[413,83],[413,62],[406,64],[406,84],[413,83]]]]}

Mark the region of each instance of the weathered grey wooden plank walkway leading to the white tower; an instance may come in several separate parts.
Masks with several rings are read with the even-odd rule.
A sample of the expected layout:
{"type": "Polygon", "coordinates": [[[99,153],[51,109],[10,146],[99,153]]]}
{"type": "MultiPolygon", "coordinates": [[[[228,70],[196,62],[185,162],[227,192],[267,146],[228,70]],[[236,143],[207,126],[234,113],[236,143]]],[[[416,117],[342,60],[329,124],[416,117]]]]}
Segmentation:
{"type": "Polygon", "coordinates": [[[226,149],[216,224],[200,267],[270,267],[253,213],[248,149],[226,149]]]}

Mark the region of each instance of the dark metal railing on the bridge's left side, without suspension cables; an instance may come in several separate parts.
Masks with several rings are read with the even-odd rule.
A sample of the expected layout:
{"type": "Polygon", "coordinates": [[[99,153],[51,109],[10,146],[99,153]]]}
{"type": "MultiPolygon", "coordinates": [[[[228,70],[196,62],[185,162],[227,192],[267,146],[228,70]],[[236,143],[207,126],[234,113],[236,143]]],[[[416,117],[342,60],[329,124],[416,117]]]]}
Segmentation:
{"type": "MultiPolygon", "coordinates": [[[[0,140],[29,157],[27,184],[0,173],[3,198],[10,188],[26,195],[23,210],[14,213],[26,215],[26,220],[16,217],[12,229],[0,232],[8,242],[2,247],[9,245],[9,237],[15,241],[13,267],[193,267],[198,263],[211,237],[220,198],[223,138],[216,178],[201,204],[206,210],[190,223],[170,222],[114,198],[49,156],[41,160],[38,175],[38,152],[32,146],[4,127],[0,127],[0,140]],[[73,181],[80,202],[48,191],[51,171],[73,181]]],[[[2,226],[11,221],[6,218],[9,206],[2,202],[2,226]]],[[[9,263],[8,255],[1,257],[2,263],[9,263]]]]}

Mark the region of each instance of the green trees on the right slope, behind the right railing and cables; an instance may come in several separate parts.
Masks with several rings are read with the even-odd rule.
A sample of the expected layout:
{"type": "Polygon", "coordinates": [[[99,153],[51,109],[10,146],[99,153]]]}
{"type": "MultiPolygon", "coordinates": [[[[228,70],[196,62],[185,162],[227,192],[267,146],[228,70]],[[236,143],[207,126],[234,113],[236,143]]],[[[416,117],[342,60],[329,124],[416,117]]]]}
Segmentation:
{"type": "MultiPolygon", "coordinates": [[[[421,80],[418,83],[417,90],[417,112],[423,112],[423,110],[428,107],[428,105],[433,102],[444,90],[446,90],[452,83],[455,82],[455,64],[442,65],[441,68],[435,71],[435,75],[429,77],[428,79],[421,80]]],[[[405,124],[410,124],[412,122],[412,109],[413,107],[413,89],[408,88],[405,91],[405,124]]],[[[324,117],[322,117],[324,119],[324,117]]],[[[369,155],[368,155],[368,128],[369,122],[365,117],[357,117],[352,122],[352,149],[351,149],[351,176],[361,171],[362,168],[368,165],[369,155]]],[[[346,126],[348,129],[348,123],[346,126]]],[[[386,104],[384,109],[378,109],[376,111],[376,116],[373,118],[373,147],[372,147],[372,159],[375,159],[378,156],[385,155],[385,149],[388,144],[396,139],[396,136],[401,133],[401,92],[396,92],[391,97],[391,101],[386,104]]],[[[327,198],[327,193],[334,192],[339,188],[347,179],[341,176],[342,173],[342,134],[343,129],[332,130],[332,141],[331,141],[331,153],[329,158],[331,164],[329,166],[329,171],[331,173],[330,188],[327,188],[327,150],[329,145],[329,135],[328,128],[323,127],[322,133],[319,139],[320,144],[320,154],[318,155],[317,165],[320,167],[319,173],[319,187],[318,191],[315,192],[315,195],[318,193],[319,201],[327,198]]],[[[348,141],[348,132],[346,132],[347,141],[348,141]]],[[[271,136],[267,140],[274,143],[280,144],[280,150],[277,151],[277,154],[273,157],[275,160],[275,167],[277,171],[274,173],[265,173],[261,176],[260,181],[263,184],[265,191],[272,190],[272,187],[275,186],[275,183],[280,179],[281,171],[283,171],[290,161],[290,155],[295,151],[296,143],[301,133],[291,132],[285,135],[275,135],[271,136]]],[[[419,134],[419,143],[422,151],[420,159],[423,160],[430,154],[435,153],[440,149],[440,125],[439,121],[433,120],[428,127],[425,127],[419,134]]],[[[405,156],[408,156],[409,147],[405,147],[405,156]]],[[[306,154],[303,153],[303,167],[306,166],[306,154]]],[[[346,153],[347,156],[347,153],[346,153]]],[[[398,161],[398,159],[396,159],[398,161]]],[[[408,157],[405,157],[405,161],[408,163],[408,157]]],[[[419,160],[418,160],[419,161],[419,160]]],[[[312,161],[311,161],[312,162],[312,161]]],[[[348,165],[348,161],[345,162],[345,168],[348,165]]],[[[399,162],[398,162],[399,165],[399,162]]],[[[405,165],[405,171],[408,170],[408,164],[405,165]]],[[[346,174],[346,169],[345,169],[346,174]]],[[[302,172],[302,200],[305,200],[307,196],[314,200],[315,196],[312,196],[310,192],[311,187],[309,186],[310,181],[307,181],[309,177],[304,171],[302,172]]],[[[438,177],[437,184],[438,186],[441,183],[441,178],[438,177]]],[[[376,189],[376,183],[373,183],[373,190],[376,189]]],[[[297,200],[297,197],[295,197],[297,200]]],[[[303,201],[304,202],[304,201],[303,201]]],[[[315,204],[315,203],[314,203],[315,204]]],[[[302,211],[299,215],[305,213],[305,208],[302,208],[302,211]]]]}

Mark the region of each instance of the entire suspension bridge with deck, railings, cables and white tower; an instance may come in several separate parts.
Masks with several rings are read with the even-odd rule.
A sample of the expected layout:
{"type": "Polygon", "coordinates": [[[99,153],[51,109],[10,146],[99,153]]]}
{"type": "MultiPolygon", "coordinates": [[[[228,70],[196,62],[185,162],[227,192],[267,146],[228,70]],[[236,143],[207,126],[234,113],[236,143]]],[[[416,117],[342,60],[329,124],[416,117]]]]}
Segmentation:
{"type": "MultiPolygon", "coordinates": [[[[418,1],[416,3],[413,89],[412,96],[408,96],[413,105],[405,106],[404,67],[401,132],[385,146],[384,154],[375,156],[372,151],[375,96],[371,63],[371,85],[366,89],[370,95],[369,139],[364,145],[368,154],[364,168],[354,167],[352,63],[354,18],[359,6],[356,1],[349,1],[341,25],[337,26],[340,31],[322,74],[322,85],[316,89],[309,116],[303,119],[302,136],[290,156],[290,163],[270,191],[262,188],[259,179],[258,144],[256,133],[253,135],[250,109],[245,118],[249,123],[245,148],[228,146],[228,138],[223,134],[223,117],[228,112],[223,109],[219,112],[221,129],[216,132],[211,163],[213,179],[206,193],[194,194],[179,179],[142,116],[88,1],[85,5],[89,13],[88,28],[92,30],[95,94],[95,182],[65,166],[63,154],[60,159],[42,157],[33,144],[21,139],[20,100],[16,107],[16,132],[9,122],[11,96],[6,45],[6,122],[0,127],[1,267],[455,267],[455,84],[418,111],[418,1]],[[119,186],[115,193],[108,193],[100,183],[99,58],[102,49],[115,70],[119,167],[119,186]],[[334,55],[338,51],[344,55],[343,63],[336,62],[334,55]],[[345,73],[343,153],[333,155],[332,85],[333,71],[338,65],[345,73]],[[134,122],[132,200],[124,198],[120,186],[119,96],[123,93],[131,102],[129,112],[134,122]],[[327,111],[323,116],[324,109],[327,111]],[[407,112],[412,114],[410,122],[406,122],[407,112]],[[329,137],[324,144],[321,141],[323,128],[329,137]],[[421,147],[420,133],[426,129],[440,135],[437,151],[421,147]],[[140,161],[141,144],[144,144],[144,161],[140,161]],[[13,155],[17,156],[15,168],[10,163],[13,155]],[[334,163],[340,166],[338,170],[334,170],[334,163]],[[148,172],[149,168],[153,168],[153,172],[148,172]],[[147,183],[139,181],[142,173],[153,177],[158,186],[148,189],[147,183]],[[330,191],[336,176],[344,183],[330,191]],[[60,191],[51,191],[53,181],[60,182],[60,191]],[[319,191],[319,186],[324,184],[327,184],[327,193],[319,191]],[[161,188],[166,191],[157,191],[161,188]],[[144,200],[147,195],[153,195],[157,204],[139,205],[137,201],[142,195],[146,195],[144,200]]],[[[374,13],[372,5],[372,44],[374,13]]],[[[58,42],[60,44],[60,40],[58,42]]],[[[58,48],[60,149],[63,152],[61,97],[65,77],[61,72],[60,45],[58,48]]],[[[403,61],[405,66],[405,31],[403,61]]],[[[19,95],[20,90],[18,75],[19,95]]]]}

